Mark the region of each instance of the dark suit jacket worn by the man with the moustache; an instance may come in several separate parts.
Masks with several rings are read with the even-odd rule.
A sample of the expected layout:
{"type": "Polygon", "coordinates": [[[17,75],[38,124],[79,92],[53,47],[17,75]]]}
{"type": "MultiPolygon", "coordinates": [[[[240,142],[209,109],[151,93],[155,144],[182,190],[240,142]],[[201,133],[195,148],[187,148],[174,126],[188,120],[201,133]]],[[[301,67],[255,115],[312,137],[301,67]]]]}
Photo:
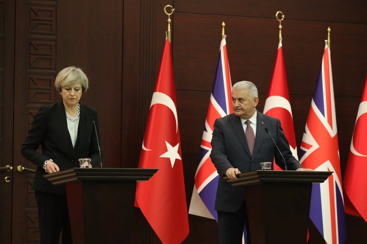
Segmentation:
{"type": "Polygon", "coordinates": [[[228,168],[238,168],[241,173],[245,173],[259,170],[261,162],[273,162],[275,158],[276,164],[284,169],[282,157],[265,131],[266,127],[282,152],[287,169],[302,168],[298,160],[292,155],[279,119],[257,111],[255,145],[251,156],[241,119],[233,113],[223,118],[217,118],[214,123],[210,155],[219,174],[215,210],[234,212],[245,201],[245,189],[232,187],[223,179],[228,168]]]}

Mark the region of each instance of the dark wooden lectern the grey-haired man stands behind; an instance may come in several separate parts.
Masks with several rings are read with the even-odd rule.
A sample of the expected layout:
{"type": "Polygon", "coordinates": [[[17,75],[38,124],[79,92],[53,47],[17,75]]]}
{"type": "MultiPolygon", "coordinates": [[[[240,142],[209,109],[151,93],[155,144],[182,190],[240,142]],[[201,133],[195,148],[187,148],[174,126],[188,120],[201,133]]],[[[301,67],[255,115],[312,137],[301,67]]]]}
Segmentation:
{"type": "Polygon", "coordinates": [[[237,175],[233,187],[245,187],[251,243],[306,243],[312,184],[330,171],[256,170],[237,175]]]}

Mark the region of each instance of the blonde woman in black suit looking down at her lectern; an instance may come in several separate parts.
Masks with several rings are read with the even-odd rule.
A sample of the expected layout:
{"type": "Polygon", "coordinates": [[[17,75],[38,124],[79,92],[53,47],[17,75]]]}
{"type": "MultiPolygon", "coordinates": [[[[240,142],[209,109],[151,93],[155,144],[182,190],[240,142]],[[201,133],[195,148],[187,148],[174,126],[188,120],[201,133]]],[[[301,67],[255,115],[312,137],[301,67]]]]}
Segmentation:
{"type": "Polygon", "coordinates": [[[65,186],[54,186],[43,175],[78,168],[80,158],[90,158],[92,167],[101,161],[97,111],[79,103],[88,89],[87,76],[80,68],[67,67],[57,75],[55,87],[62,102],[40,108],[21,149],[38,166],[33,189],[41,244],[59,243],[61,230],[62,243],[72,243],[65,186]]]}

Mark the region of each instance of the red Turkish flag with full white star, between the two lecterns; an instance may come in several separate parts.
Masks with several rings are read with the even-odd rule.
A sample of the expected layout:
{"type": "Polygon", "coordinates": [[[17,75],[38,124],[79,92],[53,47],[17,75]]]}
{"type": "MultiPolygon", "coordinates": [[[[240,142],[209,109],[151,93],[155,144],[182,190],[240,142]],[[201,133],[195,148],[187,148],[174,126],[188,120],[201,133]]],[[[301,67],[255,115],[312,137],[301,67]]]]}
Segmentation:
{"type": "Polygon", "coordinates": [[[138,182],[136,206],[163,243],[181,243],[189,234],[189,219],[168,39],[150,104],[139,168],[159,170],[149,180],[138,182]]]}

